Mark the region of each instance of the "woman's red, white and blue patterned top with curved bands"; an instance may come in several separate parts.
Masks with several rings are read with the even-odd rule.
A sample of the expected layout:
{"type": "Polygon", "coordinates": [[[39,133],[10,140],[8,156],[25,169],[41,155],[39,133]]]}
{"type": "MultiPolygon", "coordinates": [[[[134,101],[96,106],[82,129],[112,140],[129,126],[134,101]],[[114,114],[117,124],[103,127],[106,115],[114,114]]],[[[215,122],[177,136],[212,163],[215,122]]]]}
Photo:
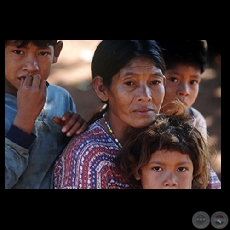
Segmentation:
{"type": "Polygon", "coordinates": [[[74,137],[54,168],[55,189],[129,188],[116,173],[114,159],[120,147],[99,120],[74,137]]]}

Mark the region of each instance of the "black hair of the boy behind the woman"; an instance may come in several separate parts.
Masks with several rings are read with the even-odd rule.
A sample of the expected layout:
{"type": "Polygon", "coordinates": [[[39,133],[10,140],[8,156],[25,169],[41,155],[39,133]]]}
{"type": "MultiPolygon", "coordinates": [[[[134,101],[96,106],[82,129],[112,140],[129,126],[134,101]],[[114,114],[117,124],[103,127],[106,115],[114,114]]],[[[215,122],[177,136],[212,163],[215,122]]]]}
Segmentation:
{"type": "Polygon", "coordinates": [[[206,69],[208,46],[205,40],[156,40],[162,49],[166,69],[174,68],[177,64],[193,65],[200,68],[201,73],[206,69]]]}

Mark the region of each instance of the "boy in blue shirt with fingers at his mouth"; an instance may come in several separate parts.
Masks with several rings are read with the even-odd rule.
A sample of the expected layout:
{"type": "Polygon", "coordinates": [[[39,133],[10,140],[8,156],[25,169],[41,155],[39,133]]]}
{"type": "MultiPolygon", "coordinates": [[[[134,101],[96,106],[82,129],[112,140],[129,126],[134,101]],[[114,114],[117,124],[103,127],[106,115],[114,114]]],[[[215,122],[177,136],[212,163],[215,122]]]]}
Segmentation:
{"type": "Polygon", "coordinates": [[[5,188],[53,188],[53,163],[86,130],[71,95],[49,85],[63,42],[5,40],[5,188]]]}

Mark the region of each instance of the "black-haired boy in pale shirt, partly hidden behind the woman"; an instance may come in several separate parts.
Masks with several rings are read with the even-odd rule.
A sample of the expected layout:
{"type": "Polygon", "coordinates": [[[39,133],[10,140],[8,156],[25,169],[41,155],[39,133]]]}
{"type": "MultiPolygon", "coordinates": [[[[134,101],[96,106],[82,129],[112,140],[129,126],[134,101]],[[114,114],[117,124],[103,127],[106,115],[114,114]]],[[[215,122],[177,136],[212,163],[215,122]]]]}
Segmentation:
{"type": "MultiPolygon", "coordinates": [[[[179,99],[186,106],[187,112],[195,118],[198,130],[208,140],[205,118],[192,107],[198,96],[201,77],[207,65],[207,42],[180,39],[156,41],[162,48],[166,64],[166,91],[162,112],[169,108],[171,101],[179,99]]],[[[221,182],[212,168],[207,188],[221,188],[221,182]]]]}

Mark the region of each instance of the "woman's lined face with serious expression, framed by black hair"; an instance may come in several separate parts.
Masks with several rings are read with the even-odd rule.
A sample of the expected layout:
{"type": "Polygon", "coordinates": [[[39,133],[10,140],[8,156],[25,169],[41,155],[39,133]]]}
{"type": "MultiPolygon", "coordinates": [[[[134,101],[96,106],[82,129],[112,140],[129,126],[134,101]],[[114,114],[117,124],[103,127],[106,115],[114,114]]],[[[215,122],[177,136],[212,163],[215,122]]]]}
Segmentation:
{"type": "Polygon", "coordinates": [[[107,93],[109,120],[114,128],[143,127],[159,113],[165,77],[151,60],[135,58],[113,77],[107,93]]]}

